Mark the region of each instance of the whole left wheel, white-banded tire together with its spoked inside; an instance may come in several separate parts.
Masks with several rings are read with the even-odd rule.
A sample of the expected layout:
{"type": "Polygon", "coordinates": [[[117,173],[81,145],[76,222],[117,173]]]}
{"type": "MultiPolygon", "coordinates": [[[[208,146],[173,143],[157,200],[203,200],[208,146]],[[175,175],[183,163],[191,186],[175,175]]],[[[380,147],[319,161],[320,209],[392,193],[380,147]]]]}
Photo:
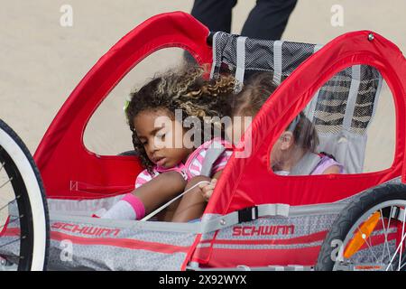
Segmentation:
{"type": "Polygon", "coordinates": [[[1,119],[0,133],[0,251],[18,260],[15,269],[42,270],[49,228],[41,175],[26,145],[1,119]]]}

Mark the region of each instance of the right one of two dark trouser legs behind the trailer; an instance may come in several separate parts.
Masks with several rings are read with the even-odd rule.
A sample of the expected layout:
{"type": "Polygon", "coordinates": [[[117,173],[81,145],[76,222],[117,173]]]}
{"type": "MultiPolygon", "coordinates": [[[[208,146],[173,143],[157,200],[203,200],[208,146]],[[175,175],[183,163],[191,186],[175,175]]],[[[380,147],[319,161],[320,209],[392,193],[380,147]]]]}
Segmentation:
{"type": "Polygon", "coordinates": [[[241,35],[279,40],[297,0],[257,0],[245,21],[241,35]]]}

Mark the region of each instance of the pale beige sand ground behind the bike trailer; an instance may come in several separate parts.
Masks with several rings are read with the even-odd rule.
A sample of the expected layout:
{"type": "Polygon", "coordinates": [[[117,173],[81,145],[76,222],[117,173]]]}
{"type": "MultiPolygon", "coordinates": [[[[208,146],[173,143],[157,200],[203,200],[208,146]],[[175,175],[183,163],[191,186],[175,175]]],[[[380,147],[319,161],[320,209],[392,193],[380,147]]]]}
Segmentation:
{"type": "MultiPolygon", "coordinates": [[[[240,33],[254,4],[254,0],[238,2],[233,14],[232,33],[240,33]]],[[[154,14],[178,10],[189,12],[191,6],[191,0],[2,2],[0,117],[23,138],[33,154],[69,93],[115,42],[154,14]],[[73,8],[72,27],[60,25],[61,5],[73,8]]],[[[282,39],[323,44],[342,33],[372,30],[395,42],[401,51],[406,51],[405,11],[404,0],[299,0],[282,39]],[[343,27],[331,25],[332,5],[343,6],[343,27]]],[[[179,60],[180,50],[160,51],[131,71],[92,117],[85,134],[88,148],[98,154],[118,154],[131,149],[122,110],[125,95],[134,85],[143,83],[156,71],[179,60]]],[[[378,128],[387,136],[375,141],[384,142],[385,147],[393,145],[391,109],[391,99],[388,98],[381,106],[379,116],[383,117],[385,127],[392,126],[392,129],[378,128]]],[[[382,160],[387,159],[387,156],[382,157],[382,160]]]]}

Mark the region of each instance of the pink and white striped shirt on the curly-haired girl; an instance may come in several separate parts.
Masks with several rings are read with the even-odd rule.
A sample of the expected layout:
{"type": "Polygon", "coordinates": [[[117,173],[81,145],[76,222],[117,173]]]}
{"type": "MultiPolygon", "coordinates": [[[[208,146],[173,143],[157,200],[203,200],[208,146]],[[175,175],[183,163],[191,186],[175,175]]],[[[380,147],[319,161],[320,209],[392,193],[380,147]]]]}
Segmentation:
{"type": "Polygon", "coordinates": [[[143,172],[140,172],[140,174],[138,174],[135,180],[135,189],[141,187],[145,182],[150,182],[154,177],[162,172],[180,172],[183,175],[184,179],[189,181],[194,176],[200,175],[208,149],[212,146],[218,147],[219,144],[223,144],[226,147],[226,150],[222,154],[220,154],[216,162],[213,163],[213,167],[210,173],[210,176],[212,176],[216,172],[221,171],[225,168],[231,154],[233,154],[231,144],[226,143],[225,140],[222,140],[220,138],[214,138],[198,146],[198,148],[189,155],[186,163],[179,163],[177,166],[170,169],[164,169],[162,167],[155,166],[153,168],[153,176],[147,170],[143,170],[143,172]]]}

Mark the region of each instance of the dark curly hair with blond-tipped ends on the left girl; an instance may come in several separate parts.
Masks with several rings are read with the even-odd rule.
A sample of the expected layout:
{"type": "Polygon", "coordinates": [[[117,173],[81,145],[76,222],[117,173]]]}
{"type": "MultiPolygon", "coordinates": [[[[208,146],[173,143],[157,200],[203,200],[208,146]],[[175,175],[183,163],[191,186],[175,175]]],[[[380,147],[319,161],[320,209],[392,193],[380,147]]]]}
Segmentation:
{"type": "MultiPolygon", "coordinates": [[[[207,70],[198,66],[184,66],[180,70],[170,70],[155,76],[141,89],[130,94],[131,101],[125,109],[131,131],[135,153],[148,172],[152,172],[153,163],[148,158],[140,142],[134,117],[146,110],[167,109],[175,116],[175,109],[181,109],[182,120],[186,117],[198,117],[200,124],[204,117],[224,117],[230,112],[230,96],[234,93],[236,80],[232,76],[220,76],[217,79],[205,79],[207,70]]],[[[206,120],[207,121],[207,120],[206,120]]],[[[209,124],[211,130],[218,123],[209,124]]],[[[223,130],[222,130],[223,131],[223,130]]],[[[203,130],[202,130],[203,140],[203,130]]]]}

